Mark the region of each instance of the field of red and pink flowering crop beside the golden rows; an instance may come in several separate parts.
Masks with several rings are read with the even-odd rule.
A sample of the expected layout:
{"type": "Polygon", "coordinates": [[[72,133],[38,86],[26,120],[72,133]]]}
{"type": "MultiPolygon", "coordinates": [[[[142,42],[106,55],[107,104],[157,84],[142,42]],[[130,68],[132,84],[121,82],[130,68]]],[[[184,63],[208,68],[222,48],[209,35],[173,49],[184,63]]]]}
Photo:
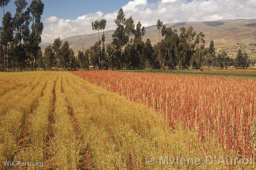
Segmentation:
{"type": "Polygon", "coordinates": [[[183,124],[208,140],[243,156],[254,155],[253,120],[256,81],[252,79],[174,74],[72,72],[165,115],[172,128],[183,124]]]}

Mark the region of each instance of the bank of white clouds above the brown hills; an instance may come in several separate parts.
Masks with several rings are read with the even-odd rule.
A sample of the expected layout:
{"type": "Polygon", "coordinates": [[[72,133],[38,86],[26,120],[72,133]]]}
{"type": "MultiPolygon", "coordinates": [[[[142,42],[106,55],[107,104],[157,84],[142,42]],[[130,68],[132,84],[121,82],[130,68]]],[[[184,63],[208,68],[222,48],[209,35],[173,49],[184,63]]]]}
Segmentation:
{"type": "MultiPolygon", "coordinates": [[[[158,19],[164,23],[179,21],[210,21],[218,19],[255,19],[256,0],[159,0],[148,3],[147,0],[134,0],[123,7],[125,17],[132,15],[134,22],[141,21],[143,26],[156,24],[158,19]]],[[[66,38],[73,35],[95,33],[91,22],[107,19],[106,30],[115,29],[115,12],[89,13],[77,19],[59,19],[51,16],[44,21],[43,41],[50,41],[60,36],[66,38]]]]}

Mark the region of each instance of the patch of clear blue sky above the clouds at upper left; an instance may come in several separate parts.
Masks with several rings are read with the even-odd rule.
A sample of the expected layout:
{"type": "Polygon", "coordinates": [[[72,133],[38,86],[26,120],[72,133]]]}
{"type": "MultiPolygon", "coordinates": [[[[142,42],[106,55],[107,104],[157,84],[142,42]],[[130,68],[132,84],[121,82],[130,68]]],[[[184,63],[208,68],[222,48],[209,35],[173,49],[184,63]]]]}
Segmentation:
{"type": "MultiPolygon", "coordinates": [[[[15,14],[15,0],[11,0],[5,12],[10,11],[15,14]]],[[[28,5],[32,0],[26,0],[28,5]]],[[[42,20],[50,16],[56,16],[63,19],[76,19],[87,13],[95,13],[101,11],[103,13],[113,12],[127,4],[129,0],[42,0],[45,4],[42,20]],[[68,10],[67,10],[68,9],[68,10]]],[[[148,0],[149,3],[157,2],[157,0],[148,0]]],[[[3,18],[3,9],[1,9],[0,17],[3,18]]]]}

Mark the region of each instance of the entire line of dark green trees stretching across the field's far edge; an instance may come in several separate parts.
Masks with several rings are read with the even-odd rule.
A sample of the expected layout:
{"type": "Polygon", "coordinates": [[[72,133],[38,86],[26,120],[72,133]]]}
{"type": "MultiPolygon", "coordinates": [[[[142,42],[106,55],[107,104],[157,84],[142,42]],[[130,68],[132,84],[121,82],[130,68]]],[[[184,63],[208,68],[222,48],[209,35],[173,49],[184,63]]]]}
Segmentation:
{"type": "MultiPolygon", "coordinates": [[[[6,0],[1,0],[1,7],[6,6],[6,0]],[[4,3],[6,4],[4,4],[4,3]]],[[[151,44],[150,39],[143,41],[146,33],[141,22],[134,24],[132,16],[125,19],[121,8],[115,19],[116,29],[112,35],[111,44],[105,45],[104,30],[106,19],[92,22],[92,30],[98,31],[98,40],[85,51],[78,51],[74,55],[69,43],[61,42],[60,37],[52,45],[45,48],[44,55],[39,44],[43,23],[40,22],[44,5],[41,0],[33,0],[26,7],[25,0],[16,0],[16,14],[12,17],[6,12],[1,27],[0,48],[1,70],[36,70],[37,68],[50,69],[58,67],[67,70],[94,69],[122,70],[122,69],[201,69],[204,66],[227,68],[228,66],[247,67],[250,58],[247,53],[238,51],[237,58],[230,58],[225,51],[215,54],[214,42],[205,47],[205,35],[196,34],[193,27],[181,27],[177,30],[166,27],[158,19],[159,42],[151,44]],[[22,6],[23,4],[23,6],[22,6]],[[21,25],[15,23],[22,17],[21,25]],[[27,19],[27,20],[25,20],[27,19]],[[32,21],[31,29],[29,24],[32,21]],[[103,31],[100,37],[99,31],[103,31]],[[15,33],[15,34],[14,34],[15,33]],[[130,38],[134,35],[134,38],[130,38]],[[6,53],[7,52],[7,53],[6,53]],[[231,63],[239,61],[240,63],[231,63]]]]}

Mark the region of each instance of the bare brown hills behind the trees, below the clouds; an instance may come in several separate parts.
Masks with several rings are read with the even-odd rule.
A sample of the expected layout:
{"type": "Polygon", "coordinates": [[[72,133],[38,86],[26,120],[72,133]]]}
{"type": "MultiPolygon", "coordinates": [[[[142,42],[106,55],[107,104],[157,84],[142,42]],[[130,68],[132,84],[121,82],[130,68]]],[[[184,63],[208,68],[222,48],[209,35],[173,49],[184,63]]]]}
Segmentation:
{"type": "MultiPolygon", "coordinates": [[[[256,43],[256,19],[222,19],[203,22],[176,22],[165,25],[166,27],[171,27],[173,30],[177,29],[178,34],[181,27],[187,28],[192,26],[197,34],[200,32],[205,34],[206,45],[208,45],[211,40],[214,41],[214,44],[217,47],[229,45],[233,46],[237,43],[256,43]]],[[[114,30],[104,31],[106,45],[111,43],[113,32],[114,30]]],[[[102,32],[99,34],[101,36],[102,32]]],[[[131,38],[133,38],[133,36],[131,38]]],[[[156,25],[146,27],[146,34],[143,36],[143,41],[145,41],[147,38],[151,40],[152,44],[159,42],[159,30],[157,29],[156,25]]],[[[94,43],[98,41],[98,33],[70,36],[62,39],[62,42],[64,41],[68,41],[70,48],[77,53],[78,50],[82,50],[82,44],[84,44],[85,50],[94,45],[94,43]]],[[[51,43],[41,43],[40,46],[42,49],[44,49],[49,44],[51,43]]]]}

